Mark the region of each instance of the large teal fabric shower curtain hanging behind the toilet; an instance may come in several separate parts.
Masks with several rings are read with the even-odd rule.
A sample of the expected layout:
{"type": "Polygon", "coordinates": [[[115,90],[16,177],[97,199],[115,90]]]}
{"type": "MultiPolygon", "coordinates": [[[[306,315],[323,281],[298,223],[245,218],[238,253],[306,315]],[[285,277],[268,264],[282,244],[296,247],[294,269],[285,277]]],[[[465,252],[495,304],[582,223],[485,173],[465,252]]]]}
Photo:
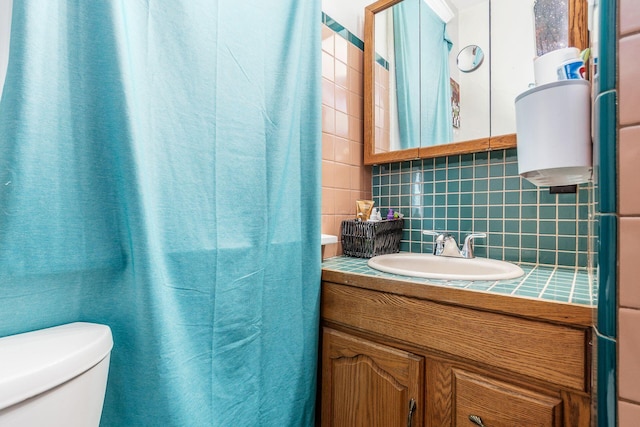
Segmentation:
{"type": "Polygon", "coordinates": [[[109,325],[102,425],[313,425],[319,54],[319,0],[14,2],[0,336],[109,325]]]}

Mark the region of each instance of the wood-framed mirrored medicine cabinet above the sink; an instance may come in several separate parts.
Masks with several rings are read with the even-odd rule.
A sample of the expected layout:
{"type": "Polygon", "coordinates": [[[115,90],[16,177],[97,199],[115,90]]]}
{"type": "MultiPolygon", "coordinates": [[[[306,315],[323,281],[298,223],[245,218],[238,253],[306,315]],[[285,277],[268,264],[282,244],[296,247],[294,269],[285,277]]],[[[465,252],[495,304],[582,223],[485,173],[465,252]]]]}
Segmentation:
{"type": "Polygon", "coordinates": [[[587,47],[586,13],[581,0],[379,0],[367,6],[365,164],[515,147],[514,101],[535,81],[541,37],[549,46],[559,30],[560,43],[587,47]],[[536,17],[551,8],[560,19],[536,17]],[[470,65],[459,68],[458,53],[470,65]]]}

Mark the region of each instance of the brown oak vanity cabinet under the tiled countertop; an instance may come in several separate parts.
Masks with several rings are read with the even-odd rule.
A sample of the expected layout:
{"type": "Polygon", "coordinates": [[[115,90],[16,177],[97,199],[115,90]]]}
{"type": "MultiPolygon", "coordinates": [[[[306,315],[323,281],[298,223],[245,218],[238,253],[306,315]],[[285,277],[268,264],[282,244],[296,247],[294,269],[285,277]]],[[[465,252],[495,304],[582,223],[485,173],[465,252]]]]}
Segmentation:
{"type": "Polygon", "coordinates": [[[550,322],[349,283],[323,282],[323,427],[591,425],[588,316],[550,322]]]}

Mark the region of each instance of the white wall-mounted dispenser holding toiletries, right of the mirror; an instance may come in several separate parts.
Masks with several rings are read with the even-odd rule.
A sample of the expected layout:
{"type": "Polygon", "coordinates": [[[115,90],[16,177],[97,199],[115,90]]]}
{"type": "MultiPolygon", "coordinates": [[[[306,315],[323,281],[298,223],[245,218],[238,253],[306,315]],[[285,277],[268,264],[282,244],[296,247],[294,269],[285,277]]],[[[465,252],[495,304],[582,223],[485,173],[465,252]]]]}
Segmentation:
{"type": "Polygon", "coordinates": [[[537,186],[591,179],[589,81],[561,80],[516,98],[518,173],[537,186]]]}

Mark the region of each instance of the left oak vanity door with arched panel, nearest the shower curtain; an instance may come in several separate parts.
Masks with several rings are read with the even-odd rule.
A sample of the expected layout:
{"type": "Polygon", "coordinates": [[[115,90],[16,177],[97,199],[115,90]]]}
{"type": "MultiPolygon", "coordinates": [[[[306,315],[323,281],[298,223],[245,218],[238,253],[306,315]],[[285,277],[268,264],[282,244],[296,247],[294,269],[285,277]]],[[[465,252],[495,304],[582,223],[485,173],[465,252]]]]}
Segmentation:
{"type": "Polygon", "coordinates": [[[424,362],[329,328],[322,334],[322,426],[422,426],[424,362]]]}

